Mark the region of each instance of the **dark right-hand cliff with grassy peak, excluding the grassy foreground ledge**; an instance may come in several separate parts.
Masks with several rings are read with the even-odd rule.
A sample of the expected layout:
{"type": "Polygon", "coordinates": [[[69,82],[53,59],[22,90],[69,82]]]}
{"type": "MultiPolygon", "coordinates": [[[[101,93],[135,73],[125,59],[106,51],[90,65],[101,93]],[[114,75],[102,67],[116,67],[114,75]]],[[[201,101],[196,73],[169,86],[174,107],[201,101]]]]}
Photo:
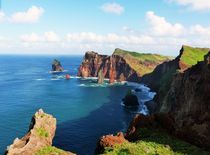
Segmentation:
{"type": "Polygon", "coordinates": [[[156,106],[155,112],[172,116],[172,134],[206,148],[210,148],[208,50],[191,48],[190,54],[196,52],[197,56],[193,58],[194,64],[189,64],[186,63],[186,52],[189,51],[183,47],[175,60],[159,65],[153,73],[142,78],[143,82],[157,91],[156,104],[153,104],[156,106]]]}

